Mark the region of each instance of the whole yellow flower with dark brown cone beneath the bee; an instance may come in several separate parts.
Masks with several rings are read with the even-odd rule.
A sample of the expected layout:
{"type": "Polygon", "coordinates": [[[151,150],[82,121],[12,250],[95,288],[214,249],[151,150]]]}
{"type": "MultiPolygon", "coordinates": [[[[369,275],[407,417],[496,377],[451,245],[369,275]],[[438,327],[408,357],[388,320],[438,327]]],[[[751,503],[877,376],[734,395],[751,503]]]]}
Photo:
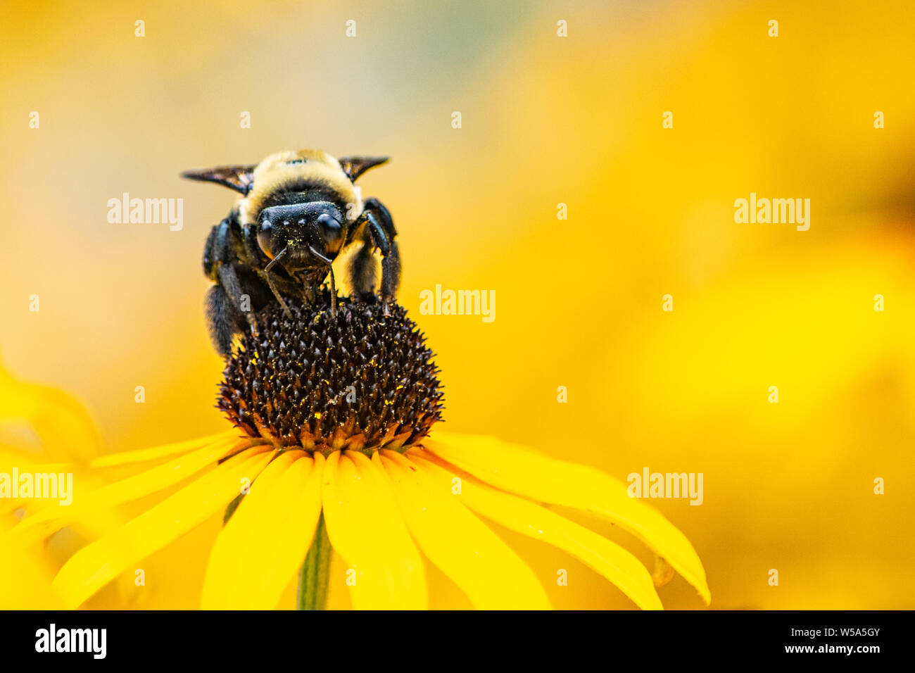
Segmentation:
{"type": "Polygon", "coordinates": [[[604,472],[490,437],[433,426],[442,393],[433,353],[403,308],[343,300],[335,317],[266,309],[227,361],[219,406],[238,430],[94,461],[137,471],[65,514],[18,528],[48,535],[100,507],[181,487],[73,555],[54,588],[77,607],[107,582],[218,513],[202,608],[274,608],[293,581],[299,607],[324,605],[331,550],[355,608],[425,608],[425,559],[478,608],[549,608],[533,570],[487,521],[541,539],[597,570],[645,609],[680,572],[705,602],[705,571],[684,535],[604,472]],[[629,551],[544,505],[629,530],[629,551]]]}

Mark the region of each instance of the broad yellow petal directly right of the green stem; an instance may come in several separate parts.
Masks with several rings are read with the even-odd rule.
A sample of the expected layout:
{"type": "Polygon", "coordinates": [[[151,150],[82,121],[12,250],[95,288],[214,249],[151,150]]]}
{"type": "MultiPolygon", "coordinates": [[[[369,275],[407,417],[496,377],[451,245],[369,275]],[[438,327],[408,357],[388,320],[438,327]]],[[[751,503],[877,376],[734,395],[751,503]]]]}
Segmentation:
{"type": "Polygon", "coordinates": [[[324,520],[330,545],[350,566],[357,610],[424,610],[425,568],[380,468],[359,451],[328,456],[324,520]]]}

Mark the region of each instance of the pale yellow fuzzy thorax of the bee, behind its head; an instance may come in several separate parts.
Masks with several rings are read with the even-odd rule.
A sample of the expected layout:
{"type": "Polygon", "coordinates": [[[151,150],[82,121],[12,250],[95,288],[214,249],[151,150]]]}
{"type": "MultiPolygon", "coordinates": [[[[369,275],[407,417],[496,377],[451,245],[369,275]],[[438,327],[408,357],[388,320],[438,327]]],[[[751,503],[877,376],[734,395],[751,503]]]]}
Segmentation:
{"type": "Polygon", "coordinates": [[[257,168],[254,168],[253,188],[238,202],[240,222],[257,222],[261,209],[264,208],[264,201],[270,195],[306,180],[325,185],[336,191],[347,203],[355,204],[355,208],[346,209],[350,221],[361,215],[360,191],[353,186],[336,157],[331,157],[320,149],[288,149],[264,158],[257,168]],[[290,163],[296,159],[306,159],[306,162],[290,163]]]}

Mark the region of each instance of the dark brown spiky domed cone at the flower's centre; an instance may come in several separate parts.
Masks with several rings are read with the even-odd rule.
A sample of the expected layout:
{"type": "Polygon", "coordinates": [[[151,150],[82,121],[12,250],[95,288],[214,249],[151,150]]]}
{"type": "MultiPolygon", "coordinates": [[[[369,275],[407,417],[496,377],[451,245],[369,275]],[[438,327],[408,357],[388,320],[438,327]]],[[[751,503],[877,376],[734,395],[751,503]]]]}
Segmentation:
{"type": "Polygon", "coordinates": [[[399,450],[441,419],[434,353],[397,304],[271,303],[227,358],[220,407],[252,437],[328,452],[399,450]]]}

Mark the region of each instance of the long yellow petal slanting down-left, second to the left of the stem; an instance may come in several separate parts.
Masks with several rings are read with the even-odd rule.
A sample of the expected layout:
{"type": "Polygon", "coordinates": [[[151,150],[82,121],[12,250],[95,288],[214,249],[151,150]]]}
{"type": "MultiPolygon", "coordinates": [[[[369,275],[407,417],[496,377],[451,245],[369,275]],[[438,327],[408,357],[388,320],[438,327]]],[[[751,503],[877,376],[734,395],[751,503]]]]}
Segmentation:
{"type": "Polygon", "coordinates": [[[271,451],[254,447],[223,462],[144,514],[81,548],[60,569],[52,586],[75,608],[124,570],[216,514],[240,493],[270,460],[271,451]]]}

